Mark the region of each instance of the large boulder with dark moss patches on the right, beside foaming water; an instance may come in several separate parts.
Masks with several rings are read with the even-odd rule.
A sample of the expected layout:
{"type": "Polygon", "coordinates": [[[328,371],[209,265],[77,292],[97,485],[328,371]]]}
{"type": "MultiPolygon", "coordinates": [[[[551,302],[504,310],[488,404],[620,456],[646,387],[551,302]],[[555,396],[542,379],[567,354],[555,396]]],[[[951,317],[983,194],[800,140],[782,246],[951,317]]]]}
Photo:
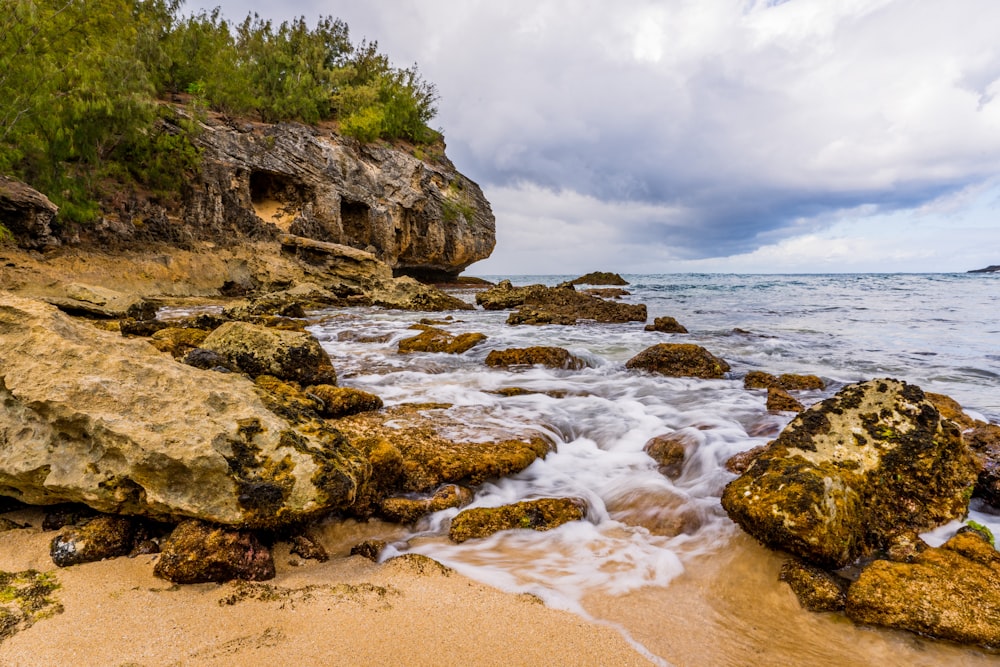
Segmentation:
{"type": "Polygon", "coordinates": [[[918,387],[870,380],[800,413],[722,506],[765,545],[839,568],[964,516],[975,475],[958,429],[918,387]]]}

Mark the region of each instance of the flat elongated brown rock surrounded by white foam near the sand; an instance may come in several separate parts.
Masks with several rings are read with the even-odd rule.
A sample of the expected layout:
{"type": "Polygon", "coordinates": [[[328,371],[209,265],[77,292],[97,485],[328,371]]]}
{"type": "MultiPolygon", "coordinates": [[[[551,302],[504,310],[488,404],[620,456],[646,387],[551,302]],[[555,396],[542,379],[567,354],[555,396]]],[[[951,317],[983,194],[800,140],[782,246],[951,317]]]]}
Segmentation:
{"type": "Polygon", "coordinates": [[[500,507],[475,507],[451,520],[448,537],[465,542],[517,528],[551,530],[586,516],[584,503],[576,498],[539,498],[500,507]]]}

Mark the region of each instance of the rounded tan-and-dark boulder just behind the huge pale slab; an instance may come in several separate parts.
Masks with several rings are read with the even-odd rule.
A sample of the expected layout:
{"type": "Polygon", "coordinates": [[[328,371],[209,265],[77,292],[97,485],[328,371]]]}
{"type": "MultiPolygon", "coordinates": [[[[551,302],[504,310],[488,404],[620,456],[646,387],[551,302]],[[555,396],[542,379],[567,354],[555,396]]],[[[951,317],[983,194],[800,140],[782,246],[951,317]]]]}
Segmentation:
{"type": "Polygon", "coordinates": [[[248,322],[226,322],[201,342],[250,377],[273,375],[302,384],[337,384],[319,341],[307,332],[281,331],[248,322]]]}

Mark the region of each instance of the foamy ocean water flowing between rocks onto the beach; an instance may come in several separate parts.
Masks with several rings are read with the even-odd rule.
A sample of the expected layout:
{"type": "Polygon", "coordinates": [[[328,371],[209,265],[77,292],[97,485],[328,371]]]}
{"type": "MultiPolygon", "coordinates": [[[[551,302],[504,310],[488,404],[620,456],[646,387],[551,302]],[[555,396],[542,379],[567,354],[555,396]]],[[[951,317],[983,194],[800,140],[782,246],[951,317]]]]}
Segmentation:
{"type": "MultiPolygon", "coordinates": [[[[798,394],[807,405],[851,382],[892,377],[947,394],[976,418],[1000,422],[1000,275],[624,277],[631,292],[624,301],[646,304],[650,321],[673,316],[690,333],[646,332],[639,322],[512,327],[505,324],[508,312],[481,309],[315,314],[311,330],[330,353],[342,385],[374,392],[387,405],[451,404],[445,412],[465,424],[463,433],[451,435],[476,439],[484,425],[527,428],[556,444],[522,473],[480,488],[473,506],[538,497],[587,503],[586,521],[547,532],[508,531],[461,545],[447,539],[457,510],[405,530],[373,526],[390,540],[388,555],[426,554],[474,579],[612,623],[658,664],[748,664],[747,650],[758,645],[775,650],[770,627],[788,635],[787,646],[755,664],[1000,660],[902,633],[866,631],[859,639],[859,630],[829,618],[836,615],[798,610],[776,582],[780,558],[742,535],[719,504],[733,477],[725,461],[773,439],[794,416],[768,413],[765,392],[743,388],[751,370],[821,376],[826,389],[798,394]],[[449,331],[482,332],[488,339],[462,355],[396,352],[399,340],[414,334],[411,324],[448,315],[454,318],[445,327],[449,331]],[[724,380],[698,380],[625,369],[638,352],[668,341],[702,345],[726,359],[732,371],[724,380]],[[491,350],[531,345],[565,347],[588,367],[501,370],[484,364],[491,350]],[[492,393],[511,387],[538,393],[492,393]],[[643,452],[650,438],[665,433],[686,443],[687,460],[675,480],[661,475],[643,452]],[[733,574],[741,571],[742,576],[733,574]],[[771,602],[748,603],[749,610],[732,607],[733,600],[755,595],[771,602]],[[704,616],[704,622],[674,618],[668,608],[678,604],[704,616]],[[663,620],[651,625],[648,619],[656,614],[663,620]],[[667,628],[673,628],[672,638],[664,634],[667,628]],[[707,653],[676,633],[701,637],[691,641],[711,642],[720,652],[706,660],[707,653]],[[811,655],[804,642],[821,650],[811,655]]],[[[487,278],[553,285],[572,276],[487,278]]],[[[474,303],[474,291],[457,295],[474,303]]],[[[975,505],[970,517],[1000,535],[1000,516],[975,505]]],[[[940,543],[959,526],[946,526],[927,539],[940,543]]]]}

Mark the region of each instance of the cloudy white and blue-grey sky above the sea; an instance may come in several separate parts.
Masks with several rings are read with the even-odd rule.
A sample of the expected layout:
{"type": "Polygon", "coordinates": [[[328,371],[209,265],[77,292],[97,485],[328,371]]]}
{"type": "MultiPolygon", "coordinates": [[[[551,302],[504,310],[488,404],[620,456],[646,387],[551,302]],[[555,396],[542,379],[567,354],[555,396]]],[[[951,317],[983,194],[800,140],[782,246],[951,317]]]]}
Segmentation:
{"type": "Polygon", "coordinates": [[[470,273],[1000,264],[997,0],[204,2],[419,65],[497,249],[470,273]]]}

